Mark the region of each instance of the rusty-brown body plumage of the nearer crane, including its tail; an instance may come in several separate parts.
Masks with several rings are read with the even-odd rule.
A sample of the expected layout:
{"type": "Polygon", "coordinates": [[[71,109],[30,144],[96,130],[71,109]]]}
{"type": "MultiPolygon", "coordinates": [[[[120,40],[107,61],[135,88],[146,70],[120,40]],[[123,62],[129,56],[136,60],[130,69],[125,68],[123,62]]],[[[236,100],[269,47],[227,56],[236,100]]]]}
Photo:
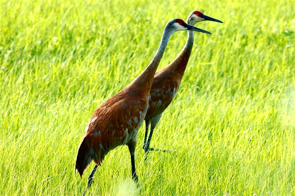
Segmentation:
{"type": "Polygon", "coordinates": [[[130,85],[101,104],[92,114],[77,153],[80,176],[94,160],[100,166],[104,156],[119,145],[132,144],[147,110],[146,93],[133,91],[130,85]],[[126,96],[128,95],[128,96],[126,96]]]}

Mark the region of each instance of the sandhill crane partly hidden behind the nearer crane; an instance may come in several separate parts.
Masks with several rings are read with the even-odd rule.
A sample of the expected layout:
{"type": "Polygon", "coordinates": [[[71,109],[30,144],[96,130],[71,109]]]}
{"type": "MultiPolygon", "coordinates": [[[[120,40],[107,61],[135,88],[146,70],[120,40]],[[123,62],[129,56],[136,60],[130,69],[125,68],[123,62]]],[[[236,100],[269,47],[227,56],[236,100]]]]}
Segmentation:
{"type": "MultiPolygon", "coordinates": [[[[222,23],[222,21],[208,17],[200,11],[193,11],[187,17],[187,24],[190,25],[195,25],[200,21],[222,23]]],[[[158,124],[163,111],[169,106],[179,89],[188,59],[190,58],[194,43],[194,32],[188,31],[187,34],[187,42],[180,54],[168,66],[155,73],[149,96],[148,111],[144,119],[146,125],[143,145],[145,160],[150,150],[168,151],[152,148],[150,147],[150,142],[155,126],[158,124]],[[148,136],[149,124],[151,124],[151,130],[148,136]]]]}

